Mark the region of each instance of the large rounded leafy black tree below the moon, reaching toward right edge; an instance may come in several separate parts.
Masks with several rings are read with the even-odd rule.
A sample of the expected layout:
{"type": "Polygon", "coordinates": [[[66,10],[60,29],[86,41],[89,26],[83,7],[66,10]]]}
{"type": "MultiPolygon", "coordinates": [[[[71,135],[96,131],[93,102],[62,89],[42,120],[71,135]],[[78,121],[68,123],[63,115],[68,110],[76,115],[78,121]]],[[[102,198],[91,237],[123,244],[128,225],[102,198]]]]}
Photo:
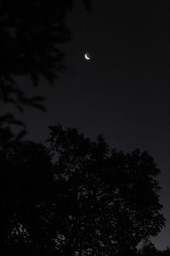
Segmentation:
{"type": "MultiPolygon", "coordinates": [[[[49,142],[59,155],[56,175],[65,188],[63,224],[66,226],[69,206],[73,226],[79,224],[77,231],[71,230],[71,224],[65,230],[65,240],[71,247],[86,253],[91,248],[92,255],[123,254],[134,252],[140,241],[156,236],[164,218],[154,160],[138,149],[131,154],[112,149],[109,155],[103,137],[91,143],[77,130],[63,131],[61,126],[50,129],[49,142]],[[77,216],[72,212],[80,213],[77,216]],[[77,239],[70,231],[76,232],[77,239]]],[[[64,192],[61,195],[63,201],[64,192]]],[[[63,230],[62,221],[59,223],[63,230]]]]}

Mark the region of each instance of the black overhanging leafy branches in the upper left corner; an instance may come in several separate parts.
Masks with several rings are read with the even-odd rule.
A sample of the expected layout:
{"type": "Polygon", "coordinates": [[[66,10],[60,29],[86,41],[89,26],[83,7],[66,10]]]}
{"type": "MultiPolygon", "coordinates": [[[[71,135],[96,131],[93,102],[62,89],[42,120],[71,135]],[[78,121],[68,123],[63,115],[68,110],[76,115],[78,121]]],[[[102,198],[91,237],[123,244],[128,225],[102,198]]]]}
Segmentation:
{"type": "MultiPolygon", "coordinates": [[[[83,0],[90,9],[90,1],[83,0]]],[[[42,96],[27,95],[24,84],[17,78],[30,77],[37,86],[39,78],[45,77],[50,84],[64,69],[64,53],[60,45],[71,39],[65,25],[68,9],[73,0],[1,0],[0,1],[0,103],[10,103],[24,111],[26,106],[45,110],[42,96]]],[[[0,119],[0,138],[10,139],[14,133],[11,125],[23,123],[12,113],[0,119]]],[[[24,135],[21,131],[17,138],[24,135]]]]}

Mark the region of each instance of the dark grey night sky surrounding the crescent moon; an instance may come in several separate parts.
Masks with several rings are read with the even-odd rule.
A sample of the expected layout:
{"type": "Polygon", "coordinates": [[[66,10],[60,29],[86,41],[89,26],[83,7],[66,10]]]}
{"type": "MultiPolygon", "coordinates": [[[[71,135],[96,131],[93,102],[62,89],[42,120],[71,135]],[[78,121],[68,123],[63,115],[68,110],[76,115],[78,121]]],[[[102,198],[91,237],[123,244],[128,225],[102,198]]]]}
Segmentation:
{"type": "MultiPolygon", "coordinates": [[[[40,92],[47,113],[27,110],[28,137],[46,139],[47,125],[75,126],[87,137],[102,133],[111,147],[147,150],[161,169],[161,202],[167,226],[154,240],[170,247],[170,84],[166,1],[93,1],[91,15],[77,1],[68,15],[72,40],[65,44],[65,74],[40,92]],[[118,3],[117,3],[118,2],[118,3]],[[165,3],[165,4],[164,4],[165,3]],[[83,54],[89,51],[91,61],[83,54]]],[[[28,88],[29,79],[23,79],[28,88]]]]}

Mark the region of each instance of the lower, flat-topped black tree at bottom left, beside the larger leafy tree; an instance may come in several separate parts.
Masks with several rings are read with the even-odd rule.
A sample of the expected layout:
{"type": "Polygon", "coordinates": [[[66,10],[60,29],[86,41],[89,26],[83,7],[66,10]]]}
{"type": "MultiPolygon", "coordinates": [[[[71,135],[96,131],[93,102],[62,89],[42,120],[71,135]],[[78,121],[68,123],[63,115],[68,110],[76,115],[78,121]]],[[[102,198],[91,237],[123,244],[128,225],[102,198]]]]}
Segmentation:
{"type": "Polygon", "coordinates": [[[41,144],[10,143],[0,155],[1,253],[34,252],[45,234],[40,225],[43,220],[48,221],[50,212],[48,200],[53,177],[48,151],[41,144]]]}

